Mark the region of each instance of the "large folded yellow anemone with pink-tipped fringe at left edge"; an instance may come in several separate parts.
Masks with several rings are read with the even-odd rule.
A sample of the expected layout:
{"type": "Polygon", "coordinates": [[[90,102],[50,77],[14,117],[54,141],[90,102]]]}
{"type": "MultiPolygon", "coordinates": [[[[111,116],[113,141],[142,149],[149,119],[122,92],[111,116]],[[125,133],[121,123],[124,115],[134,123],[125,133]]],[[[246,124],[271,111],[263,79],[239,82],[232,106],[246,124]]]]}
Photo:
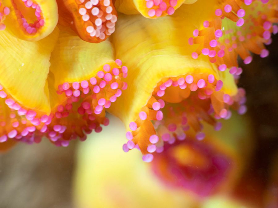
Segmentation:
{"type": "Polygon", "coordinates": [[[115,59],[108,40],[87,43],[60,28],[34,42],[8,29],[0,33],[1,143],[40,142],[46,136],[67,146],[108,125],[105,111],[127,87],[121,81],[127,67],[115,59]]]}

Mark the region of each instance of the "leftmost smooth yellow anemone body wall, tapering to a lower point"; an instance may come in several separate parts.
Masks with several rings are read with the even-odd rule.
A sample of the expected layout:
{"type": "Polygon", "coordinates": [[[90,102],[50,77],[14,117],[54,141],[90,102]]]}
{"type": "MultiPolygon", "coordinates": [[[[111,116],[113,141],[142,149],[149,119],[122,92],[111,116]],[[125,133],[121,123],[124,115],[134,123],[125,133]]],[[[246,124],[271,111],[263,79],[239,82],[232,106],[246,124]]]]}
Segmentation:
{"type": "Polygon", "coordinates": [[[50,54],[59,35],[51,35],[36,42],[15,38],[6,29],[0,34],[0,84],[16,102],[26,108],[50,113],[48,71],[50,54]]]}

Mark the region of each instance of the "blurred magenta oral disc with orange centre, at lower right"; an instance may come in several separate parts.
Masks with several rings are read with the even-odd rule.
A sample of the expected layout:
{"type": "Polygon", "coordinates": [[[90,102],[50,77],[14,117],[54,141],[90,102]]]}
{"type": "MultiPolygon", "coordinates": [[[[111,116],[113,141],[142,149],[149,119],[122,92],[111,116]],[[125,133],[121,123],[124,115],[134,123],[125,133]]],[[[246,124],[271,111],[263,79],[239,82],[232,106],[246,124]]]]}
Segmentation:
{"type": "Polygon", "coordinates": [[[191,191],[200,197],[217,192],[236,164],[208,142],[188,137],[174,145],[164,145],[155,153],[151,167],[163,183],[191,191]]]}

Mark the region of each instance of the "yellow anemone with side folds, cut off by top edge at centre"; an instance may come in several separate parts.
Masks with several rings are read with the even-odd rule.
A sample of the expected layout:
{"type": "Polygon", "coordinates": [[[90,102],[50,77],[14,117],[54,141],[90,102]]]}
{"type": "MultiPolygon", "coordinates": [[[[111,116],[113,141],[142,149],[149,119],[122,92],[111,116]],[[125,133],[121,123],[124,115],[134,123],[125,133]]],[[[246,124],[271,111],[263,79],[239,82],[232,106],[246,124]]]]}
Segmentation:
{"type": "Polygon", "coordinates": [[[115,7],[124,14],[141,14],[146,18],[158,18],[174,14],[182,4],[197,0],[116,0],[115,7]]]}

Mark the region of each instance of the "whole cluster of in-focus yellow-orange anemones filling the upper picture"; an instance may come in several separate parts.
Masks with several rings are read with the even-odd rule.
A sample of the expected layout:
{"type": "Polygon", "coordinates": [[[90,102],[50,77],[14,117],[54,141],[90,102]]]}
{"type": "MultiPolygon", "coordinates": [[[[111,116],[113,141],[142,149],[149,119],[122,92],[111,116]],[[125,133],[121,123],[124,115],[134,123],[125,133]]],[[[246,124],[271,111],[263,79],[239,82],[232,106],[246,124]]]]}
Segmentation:
{"type": "Polygon", "coordinates": [[[124,151],[140,149],[146,162],[187,135],[202,141],[204,123],[220,130],[221,119],[246,112],[245,91],[236,86],[242,73],[238,57],[248,64],[251,53],[269,54],[264,44],[278,32],[277,5],[277,0],[2,0],[1,50],[24,57],[5,62],[1,55],[0,142],[33,143],[46,136],[67,146],[108,125],[106,109],[128,128],[124,151]],[[32,69],[40,64],[46,64],[42,78],[32,69]],[[12,67],[15,71],[8,70],[12,67]],[[40,86],[33,84],[37,78],[40,86]],[[27,98],[28,86],[36,99],[27,98]]]}

